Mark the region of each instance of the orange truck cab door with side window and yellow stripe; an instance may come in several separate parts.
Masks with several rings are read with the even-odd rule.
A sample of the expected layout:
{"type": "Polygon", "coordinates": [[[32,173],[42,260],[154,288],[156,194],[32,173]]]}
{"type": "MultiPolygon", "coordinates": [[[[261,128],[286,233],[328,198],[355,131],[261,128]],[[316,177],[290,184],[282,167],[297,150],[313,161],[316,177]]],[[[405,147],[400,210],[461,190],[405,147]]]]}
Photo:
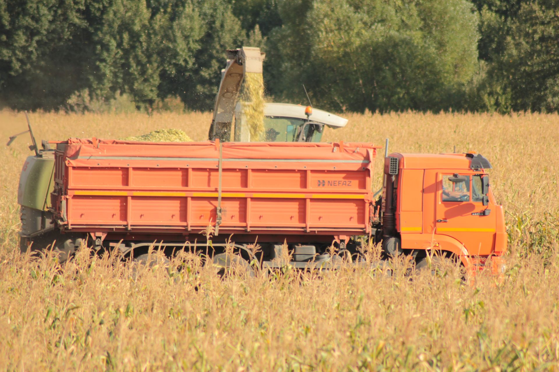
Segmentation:
{"type": "Polygon", "coordinates": [[[484,206],[482,175],[440,172],[437,182],[435,232],[460,241],[470,255],[492,252],[496,211],[484,206]]]}

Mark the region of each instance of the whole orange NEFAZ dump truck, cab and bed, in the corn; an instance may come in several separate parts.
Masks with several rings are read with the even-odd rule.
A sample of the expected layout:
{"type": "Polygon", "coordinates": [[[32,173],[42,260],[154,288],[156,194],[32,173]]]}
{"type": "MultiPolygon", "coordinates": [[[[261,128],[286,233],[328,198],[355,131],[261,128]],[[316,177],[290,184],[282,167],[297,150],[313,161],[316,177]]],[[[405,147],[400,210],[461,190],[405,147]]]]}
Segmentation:
{"type": "Polygon", "coordinates": [[[40,238],[56,239],[62,250],[88,239],[125,256],[145,253],[154,241],[168,252],[205,251],[207,226],[215,229],[216,254],[230,241],[248,258],[257,242],[267,267],[286,247],[295,267],[330,262],[333,244],[356,257],[354,238],[363,235],[382,241],[387,257],[409,254],[418,265],[429,249],[466,267],[506,250],[503,209],[485,173],[490,165],[477,154],[391,154],[376,201],[378,147],[370,143],[70,138],[45,147],[37,157],[42,165],[54,158],[54,183],[44,210],[26,206],[25,180],[37,157],[22,171],[24,250],[40,238]]]}

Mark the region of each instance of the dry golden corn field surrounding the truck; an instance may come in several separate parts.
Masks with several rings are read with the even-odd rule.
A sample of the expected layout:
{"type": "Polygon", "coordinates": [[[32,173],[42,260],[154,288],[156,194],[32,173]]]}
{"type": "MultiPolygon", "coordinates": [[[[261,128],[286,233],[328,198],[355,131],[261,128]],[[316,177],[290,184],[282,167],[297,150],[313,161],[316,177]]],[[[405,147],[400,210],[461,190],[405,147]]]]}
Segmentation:
{"type": "MultiPolygon", "coordinates": [[[[210,113],[34,113],[39,139],[177,128],[206,139],[210,113]]],[[[558,114],[348,114],[326,141],[390,138],[390,150],[476,150],[506,211],[501,278],[382,276],[372,267],[220,281],[182,256],[172,276],[87,249],[68,264],[18,253],[17,184],[30,139],[0,147],[0,369],[557,370],[558,114]],[[490,128],[490,130],[488,129],[490,128]]],[[[26,128],[0,111],[0,139],[26,128]]],[[[376,163],[381,174],[381,162],[376,163]]],[[[375,177],[375,189],[380,185],[375,177]]],[[[375,257],[375,250],[369,257],[375,257]]],[[[404,262],[391,263],[395,268],[404,262]]]]}

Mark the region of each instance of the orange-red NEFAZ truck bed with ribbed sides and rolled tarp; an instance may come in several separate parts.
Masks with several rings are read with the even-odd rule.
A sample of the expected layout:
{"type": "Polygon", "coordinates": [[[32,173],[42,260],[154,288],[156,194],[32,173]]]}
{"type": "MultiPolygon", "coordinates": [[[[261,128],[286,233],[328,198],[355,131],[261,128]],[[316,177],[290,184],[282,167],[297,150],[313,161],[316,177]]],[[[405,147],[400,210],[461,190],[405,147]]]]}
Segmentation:
{"type": "Polygon", "coordinates": [[[368,234],[369,143],[56,143],[56,219],[65,231],[368,234]],[[221,189],[219,180],[221,174],[221,189]]]}

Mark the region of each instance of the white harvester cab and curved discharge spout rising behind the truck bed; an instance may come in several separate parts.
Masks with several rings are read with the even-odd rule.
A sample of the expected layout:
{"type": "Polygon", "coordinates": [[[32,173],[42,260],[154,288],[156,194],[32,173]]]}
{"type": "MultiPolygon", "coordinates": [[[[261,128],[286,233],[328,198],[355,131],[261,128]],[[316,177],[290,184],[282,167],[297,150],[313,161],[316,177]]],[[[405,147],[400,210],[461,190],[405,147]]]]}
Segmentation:
{"type": "MultiPolygon", "coordinates": [[[[242,47],[227,51],[227,64],[221,71],[214,117],[210,126],[210,141],[254,142],[250,137],[246,109],[250,102],[238,102],[241,85],[247,73],[262,74],[266,54],[259,48],[242,47]]],[[[324,127],[342,128],[348,120],[312,107],[286,103],[264,104],[265,142],[320,142],[324,127]]]]}

